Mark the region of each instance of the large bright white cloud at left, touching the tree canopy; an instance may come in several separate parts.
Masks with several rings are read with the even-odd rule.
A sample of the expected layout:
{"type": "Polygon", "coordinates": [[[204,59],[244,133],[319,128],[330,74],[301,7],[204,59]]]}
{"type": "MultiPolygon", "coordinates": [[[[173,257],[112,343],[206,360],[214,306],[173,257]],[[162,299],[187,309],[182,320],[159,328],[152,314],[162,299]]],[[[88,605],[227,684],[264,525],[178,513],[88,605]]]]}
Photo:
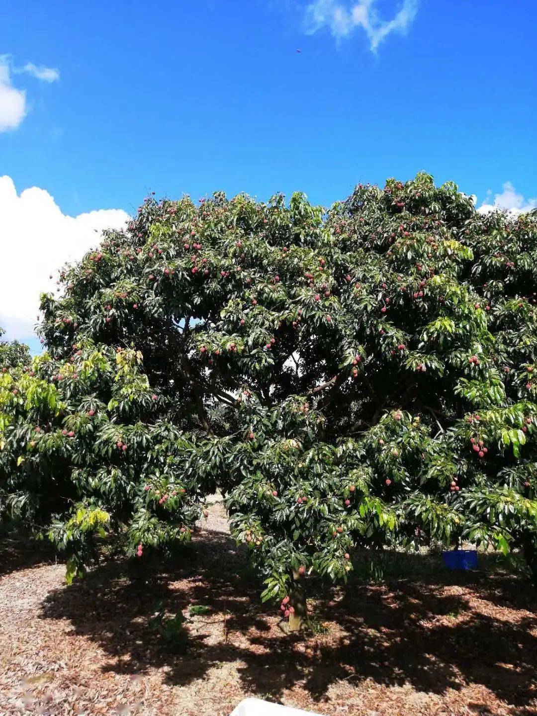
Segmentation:
{"type": "Polygon", "coordinates": [[[0,177],[0,326],[9,339],[32,334],[39,294],[56,289],[58,269],[97,246],[102,229],[122,228],[127,219],[121,209],[67,216],[44,189],[17,195],[13,180],[0,177]]]}

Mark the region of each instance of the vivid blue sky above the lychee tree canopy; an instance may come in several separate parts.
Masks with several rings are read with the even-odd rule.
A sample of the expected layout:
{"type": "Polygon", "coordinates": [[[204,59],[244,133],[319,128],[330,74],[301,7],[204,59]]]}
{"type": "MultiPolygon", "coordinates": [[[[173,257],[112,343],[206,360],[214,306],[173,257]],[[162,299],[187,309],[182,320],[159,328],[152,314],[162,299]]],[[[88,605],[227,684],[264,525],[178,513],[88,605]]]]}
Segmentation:
{"type": "Polygon", "coordinates": [[[73,217],[130,213],[148,190],[304,190],[328,205],[418,170],[478,203],[509,182],[531,205],[535,13],[536,0],[0,0],[0,176],[73,217]],[[4,106],[1,131],[16,92],[24,110],[4,106]]]}

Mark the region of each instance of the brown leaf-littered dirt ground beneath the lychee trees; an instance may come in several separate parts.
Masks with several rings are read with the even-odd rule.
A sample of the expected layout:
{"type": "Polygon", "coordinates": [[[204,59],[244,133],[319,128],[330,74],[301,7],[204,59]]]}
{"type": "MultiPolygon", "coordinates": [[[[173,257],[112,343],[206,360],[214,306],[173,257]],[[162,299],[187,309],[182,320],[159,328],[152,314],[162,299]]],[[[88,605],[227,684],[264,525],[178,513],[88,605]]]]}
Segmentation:
{"type": "Polygon", "coordinates": [[[2,716],[227,716],[248,696],[327,716],[537,714],[537,594],[512,574],[403,556],[382,583],[314,586],[314,632],[289,636],[218,503],[149,579],[108,561],[67,587],[34,545],[1,553],[2,716]],[[177,653],[155,614],[195,605],[177,653]]]}

